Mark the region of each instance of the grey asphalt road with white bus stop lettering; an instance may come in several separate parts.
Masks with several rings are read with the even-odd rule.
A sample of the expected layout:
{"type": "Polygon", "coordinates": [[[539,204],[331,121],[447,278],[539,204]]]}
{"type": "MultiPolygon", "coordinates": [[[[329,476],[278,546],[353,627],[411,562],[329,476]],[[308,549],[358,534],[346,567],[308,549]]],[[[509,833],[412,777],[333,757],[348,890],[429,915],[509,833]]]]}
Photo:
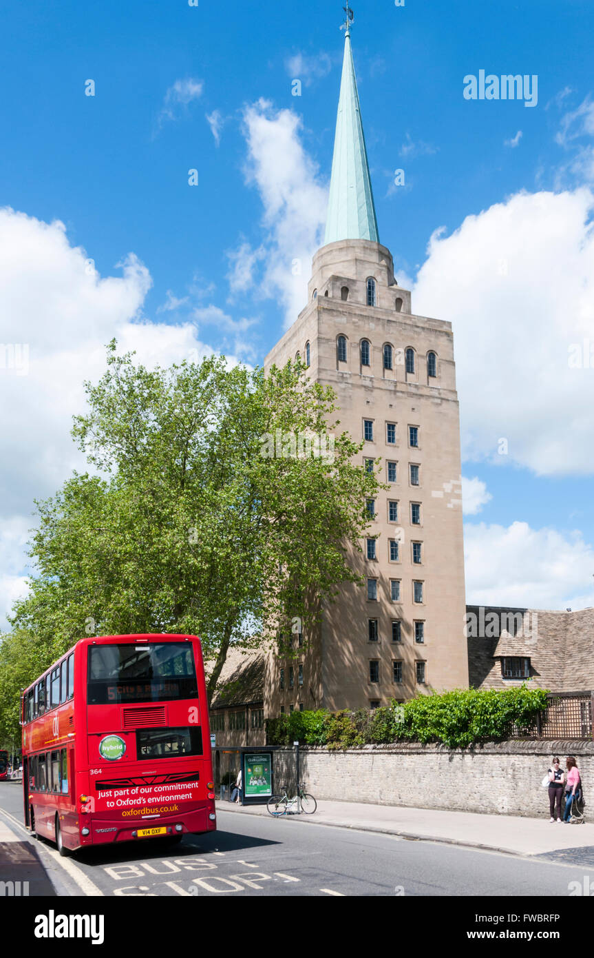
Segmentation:
{"type": "MultiPolygon", "coordinates": [[[[19,785],[0,783],[0,815],[26,837],[16,824],[19,785]]],[[[216,833],[173,848],[152,839],[59,858],[49,842],[27,840],[60,895],[567,897],[570,882],[586,879],[594,888],[591,857],[572,864],[225,810],[217,817],[216,833]]]]}

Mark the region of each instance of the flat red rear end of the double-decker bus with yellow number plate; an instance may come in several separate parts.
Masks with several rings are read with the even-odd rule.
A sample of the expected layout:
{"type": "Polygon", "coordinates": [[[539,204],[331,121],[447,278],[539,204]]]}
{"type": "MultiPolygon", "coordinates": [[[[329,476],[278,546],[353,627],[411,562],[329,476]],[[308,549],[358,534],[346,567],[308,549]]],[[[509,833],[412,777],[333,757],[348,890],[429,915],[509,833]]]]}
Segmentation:
{"type": "MultiPolygon", "coordinates": [[[[77,735],[80,844],[180,840],[216,828],[200,642],[83,640],[86,736],[77,735]],[[86,744],[86,755],[80,739],[86,744]]],[[[77,730],[78,732],[79,730],[77,730]]]]}

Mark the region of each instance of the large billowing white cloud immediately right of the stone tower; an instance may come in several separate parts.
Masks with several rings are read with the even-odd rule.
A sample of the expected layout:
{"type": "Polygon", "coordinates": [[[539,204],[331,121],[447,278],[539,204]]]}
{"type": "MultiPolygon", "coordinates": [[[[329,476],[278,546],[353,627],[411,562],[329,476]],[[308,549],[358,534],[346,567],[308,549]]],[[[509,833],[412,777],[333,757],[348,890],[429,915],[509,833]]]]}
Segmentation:
{"type": "Polygon", "coordinates": [[[594,342],[593,212],[585,188],[520,193],[430,239],[413,308],[453,325],[465,459],[593,470],[594,363],[570,365],[594,342]]]}

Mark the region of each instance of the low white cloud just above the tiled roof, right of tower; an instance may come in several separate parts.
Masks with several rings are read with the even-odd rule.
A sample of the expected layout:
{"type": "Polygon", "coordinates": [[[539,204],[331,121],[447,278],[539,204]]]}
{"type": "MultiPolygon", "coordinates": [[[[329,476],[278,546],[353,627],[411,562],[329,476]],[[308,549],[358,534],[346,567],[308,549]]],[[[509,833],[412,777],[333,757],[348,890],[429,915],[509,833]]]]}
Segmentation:
{"type": "Polygon", "coordinates": [[[464,527],[466,601],[480,605],[585,608],[594,605],[594,549],[579,532],[509,527],[464,527]]]}

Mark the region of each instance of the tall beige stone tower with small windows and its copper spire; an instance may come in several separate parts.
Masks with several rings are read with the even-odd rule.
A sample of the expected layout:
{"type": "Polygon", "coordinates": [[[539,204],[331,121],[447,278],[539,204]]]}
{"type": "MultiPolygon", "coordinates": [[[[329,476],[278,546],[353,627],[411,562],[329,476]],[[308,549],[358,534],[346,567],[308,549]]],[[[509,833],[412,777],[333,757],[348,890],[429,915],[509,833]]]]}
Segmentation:
{"type": "Polygon", "coordinates": [[[349,20],[325,242],[308,291],[265,369],[309,356],[311,378],[338,396],[341,429],[364,440],[361,465],[381,459],[389,489],[372,507],[375,544],[352,555],[365,588],[341,589],[298,659],[268,660],[266,713],[468,687],[451,324],[413,314],[379,241],[349,20]]]}

